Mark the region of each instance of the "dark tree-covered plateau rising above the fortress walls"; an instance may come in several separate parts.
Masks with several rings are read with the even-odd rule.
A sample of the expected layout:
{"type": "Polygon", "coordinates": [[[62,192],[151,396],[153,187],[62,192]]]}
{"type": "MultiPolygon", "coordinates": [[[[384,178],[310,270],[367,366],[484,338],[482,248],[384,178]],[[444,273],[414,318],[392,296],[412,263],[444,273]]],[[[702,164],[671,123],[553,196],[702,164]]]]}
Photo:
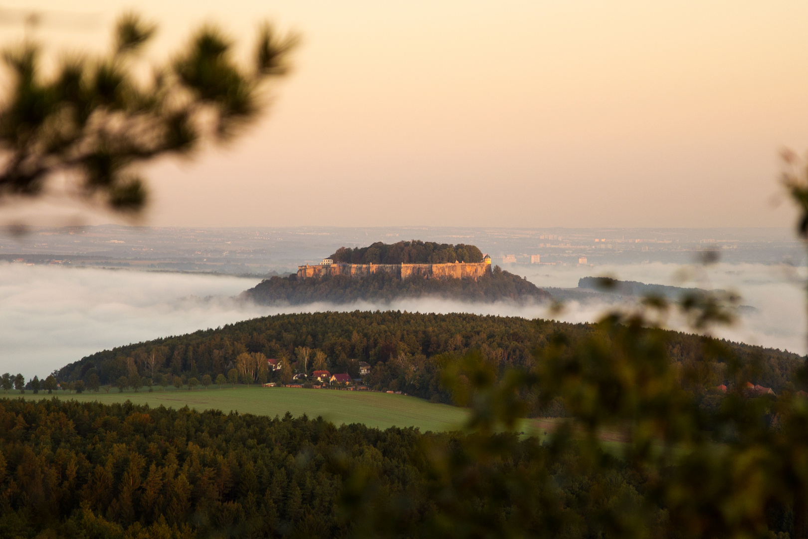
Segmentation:
{"type": "Polygon", "coordinates": [[[339,247],[330,255],[335,263],[352,264],[400,264],[400,263],[452,263],[482,262],[482,252],[473,245],[458,243],[398,242],[387,244],[383,242],[372,243],[367,247],[339,247]]]}

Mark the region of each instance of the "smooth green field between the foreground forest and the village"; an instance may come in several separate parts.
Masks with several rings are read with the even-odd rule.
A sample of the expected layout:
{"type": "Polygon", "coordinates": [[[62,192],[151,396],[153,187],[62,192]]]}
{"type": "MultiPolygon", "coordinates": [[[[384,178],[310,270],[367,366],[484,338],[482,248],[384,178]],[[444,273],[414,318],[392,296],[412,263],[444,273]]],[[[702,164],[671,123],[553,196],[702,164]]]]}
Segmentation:
{"type": "Polygon", "coordinates": [[[221,410],[225,413],[238,411],[256,415],[281,415],[287,411],[298,416],[304,413],[310,418],[322,415],[337,425],[342,423],[364,423],[368,427],[419,427],[421,432],[449,431],[461,426],[466,411],[446,404],[431,404],[420,398],[385,393],[335,390],[303,390],[289,388],[236,387],[210,390],[155,390],[124,391],[111,390],[109,393],[63,394],[61,391],[48,395],[47,391],[32,394],[26,391],[9,392],[2,397],[73,398],[77,401],[99,401],[104,404],[125,402],[135,404],[181,408],[189,406],[197,411],[221,410]]]}

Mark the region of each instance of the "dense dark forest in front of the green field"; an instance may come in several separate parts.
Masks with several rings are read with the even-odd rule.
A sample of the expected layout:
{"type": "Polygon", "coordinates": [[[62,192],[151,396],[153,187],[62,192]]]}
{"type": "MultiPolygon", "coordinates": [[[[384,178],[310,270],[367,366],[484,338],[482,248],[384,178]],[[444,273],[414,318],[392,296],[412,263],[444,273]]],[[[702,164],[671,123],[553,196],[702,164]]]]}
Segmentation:
{"type": "Polygon", "coordinates": [[[476,462],[459,433],[0,399],[0,537],[450,537],[445,516],[463,512],[478,530],[518,515],[535,533],[603,537],[600,507],[642,500],[620,461],[580,473],[574,452],[499,439],[511,457],[476,462]],[[462,470],[435,461],[451,452],[462,470]]]}

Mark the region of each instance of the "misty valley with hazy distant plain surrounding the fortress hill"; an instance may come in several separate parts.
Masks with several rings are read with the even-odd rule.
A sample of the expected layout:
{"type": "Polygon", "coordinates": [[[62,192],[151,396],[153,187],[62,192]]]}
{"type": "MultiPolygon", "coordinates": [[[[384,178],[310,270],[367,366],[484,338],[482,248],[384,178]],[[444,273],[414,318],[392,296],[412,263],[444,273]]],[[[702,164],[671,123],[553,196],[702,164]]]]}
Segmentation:
{"type": "MultiPolygon", "coordinates": [[[[734,326],[720,328],[714,332],[715,335],[792,352],[806,352],[803,338],[806,315],[802,309],[800,284],[806,276],[805,267],[783,263],[783,257],[789,253],[797,256],[799,243],[779,232],[770,232],[768,237],[761,236],[763,233],[759,232],[745,238],[734,231],[735,236],[740,238],[736,245],[745,244],[747,247],[720,250],[722,262],[702,267],[694,262],[698,253],[703,252],[703,249],[698,250],[698,246],[705,246],[704,243],[692,240],[686,250],[668,251],[671,243],[650,242],[654,239],[654,233],[650,231],[634,231],[634,234],[644,234],[647,246],[655,246],[655,250],[642,251],[642,243],[636,242],[629,250],[626,243],[624,254],[632,257],[638,252],[649,258],[663,259],[678,252],[678,262],[643,260],[630,263],[629,258],[629,263],[589,263],[589,260],[599,256],[599,251],[606,251],[608,256],[619,259],[619,253],[610,252],[614,251],[617,243],[612,245],[612,249],[601,249],[600,241],[595,246],[595,242],[583,245],[581,240],[582,246],[578,251],[566,246],[563,248],[563,251],[574,251],[574,256],[567,257],[570,262],[565,263],[562,261],[565,253],[561,248],[539,246],[541,243],[558,242],[558,239],[543,240],[541,236],[550,234],[542,234],[542,231],[513,229],[465,230],[467,234],[461,238],[458,238],[461,234],[445,234],[461,232],[457,229],[286,229],[280,232],[276,230],[276,239],[273,240],[262,239],[268,234],[262,236],[256,234],[255,230],[242,229],[90,227],[88,230],[82,234],[76,229],[48,229],[44,236],[39,236],[39,232],[34,230],[27,236],[2,238],[0,254],[27,251],[19,262],[0,263],[0,342],[3,343],[0,360],[5,370],[26,376],[41,376],[106,348],[279,313],[406,310],[593,322],[608,309],[630,308],[637,301],[637,298],[626,297],[608,298],[608,301],[604,301],[603,297],[591,301],[568,300],[560,312],[555,312],[547,304],[520,305],[513,301],[486,304],[445,297],[348,301],[339,304],[316,301],[298,305],[257,305],[238,300],[241,293],[259,284],[268,272],[288,275],[296,269],[293,263],[296,259],[300,263],[311,263],[318,256],[322,258],[335,251],[336,247],[350,246],[351,242],[369,245],[379,239],[398,241],[406,238],[404,234],[418,234],[419,238],[440,242],[473,243],[480,246],[482,251],[494,253],[494,265],[526,277],[538,288],[551,292],[553,288],[575,288],[579,279],[586,276],[612,276],[646,284],[732,290],[743,297],[741,303],[755,310],[743,313],[734,326]],[[772,235],[782,237],[775,242],[772,235]],[[78,241],[73,239],[77,237],[80,238],[78,241]],[[78,246],[71,243],[78,243],[78,246]],[[133,244],[138,244],[137,248],[141,250],[154,249],[162,262],[155,263],[155,258],[149,262],[149,258],[143,257],[143,251],[133,254],[133,244]],[[233,251],[221,255],[224,262],[219,260],[218,266],[204,265],[208,263],[206,260],[200,260],[202,265],[197,264],[196,259],[200,255],[196,255],[196,251],[209,249],[213,244],[235,246],[233,251]],[[771,244],[774,245],[772,249],[766,251],[765,246],[771,244]],[[178,246],[174,249],[172,245],[178,246]],[[637,245],[640,245],[640,250],[635,252],[633,248],[637,245]],[[191,249],[193,251],[189,253],[191,249]],[[739,253],[745,252],[745,256],[751,260],[726,262],[723,261],[726,252],[736,258],[739,253]],[[517,262],[503,262],[500,253],[516,253],[517,262]],[[520,258],[524,260],[521,253],[539,254],[541,263],[529,263],[529,259],[528,262],[520,262],[520,258]],[[587,255],[586,264],[577,263],[581,255],[587,255]],[[34,256],[40,258],[34,259],[34,256]],[[553,256],[558,260],[544,263],[545,259],[551,260],[553,256]],[[755,261],[764,256],[769,257],[768,263],[755,261]],[[778,259],[778,256],[781,258],[778,259]],[[574,263],[572,259],[576,259],[574,263]],[[69,263],[53,263],[53,260],[69,260],[69,263]],[[149,267],[149,264],[166,264],[167,267],[149,267]],[[172,267],[181,272],[171,271],[172,267]],[[214,271],[225,274],[212,275],[214,271]],[[226,274],[228,272],[229,275],[226,274]],[[252,276],[238,277],[234,274],[252,276]],[[689,280],[685,282],[684,276],[689,280]]],[[[718,236],[720,231],[677,230],[665,234],[667,237],[678,234],[682,238],[689,234],[698,238],[709,232],[718,236]]],[[[558,238],[558,235],[553,235],[558,238]]],[[[605,234],[595,230],[586,234],[579,232],[579,236],[584,235],[594,237],[605,234]]],[[[563,234],[561,237],[561,241],[566,242],[563,234]]],[[[568,237],[572,238],[571,235],[568,237]]],[[[722,245],[718,244],[719,247],[722,245]]],[[[7,258],[15,259],[11,256],[7,258]]],[[[667,325],[672,329],[687,329],[686,321],[677,317],[668,320],[667,325]]]]}

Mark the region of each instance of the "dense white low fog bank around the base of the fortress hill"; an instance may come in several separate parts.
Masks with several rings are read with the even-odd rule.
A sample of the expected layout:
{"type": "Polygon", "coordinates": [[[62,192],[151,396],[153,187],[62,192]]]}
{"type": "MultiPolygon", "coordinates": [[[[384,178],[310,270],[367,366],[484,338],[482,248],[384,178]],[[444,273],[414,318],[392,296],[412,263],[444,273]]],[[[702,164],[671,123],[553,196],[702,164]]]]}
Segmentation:
{"type": "MultiPolygon", "coordinates": [[[[610,275],[646,283],[680,284],[674,264],[599,267],[520,267],[539,286],[574,287],[579,277],[610,275]]],[[[806,351],[806,314],[802,288],[792,272],[760,264],[718,264],[686,284],[733,288],[755,306],[736,326],[716,334],[733,340],[806,351]]],[[[511,303],[468,304],[438,299],[401,300],[390,305],[357,302],[268,307],[235,301],[258,280],[226,276],[79,269],[0,264],[0,372],[40,377],[104,348],[179,335],[278,313],[321,310],[407,310],[469,312],[525,318],[551,318],[547,307],[511,303]]],[[[570,302],[552,318],[591,322],[609,306],[570,302]]],[[[684,322],[673,321],[674,329],[684,322]]]]}

